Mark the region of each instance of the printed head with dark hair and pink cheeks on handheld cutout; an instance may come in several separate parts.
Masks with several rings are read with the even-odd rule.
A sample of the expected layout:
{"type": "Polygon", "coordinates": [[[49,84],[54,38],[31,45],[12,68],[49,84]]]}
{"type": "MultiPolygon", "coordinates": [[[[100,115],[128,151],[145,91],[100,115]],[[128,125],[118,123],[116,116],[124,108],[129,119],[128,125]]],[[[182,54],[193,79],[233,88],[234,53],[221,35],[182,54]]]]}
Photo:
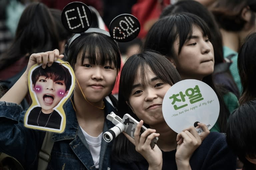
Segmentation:
{"type": "Polygon", "coordinates": [[[67,68],[54,62],[51,67],[36,68],[31,76],[32,89],[44,113],[51,112],[68,94],[71,75],[67,68]]]}

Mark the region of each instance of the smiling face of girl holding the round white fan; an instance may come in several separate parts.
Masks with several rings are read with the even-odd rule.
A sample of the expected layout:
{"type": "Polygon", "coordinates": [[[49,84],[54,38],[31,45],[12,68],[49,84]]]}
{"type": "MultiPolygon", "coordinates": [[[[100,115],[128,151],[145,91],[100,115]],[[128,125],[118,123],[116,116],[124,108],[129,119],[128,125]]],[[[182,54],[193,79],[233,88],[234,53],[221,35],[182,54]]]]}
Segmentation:
{"type": "Polygon", "coordinates": [[[162,102],[165,93],[171,85],[160,80],[149,68],[147,81],[142,85],[140,69],[133,83],[133,88],[127,103],[139,119],[148,125],[163,123],[162,102]]]}

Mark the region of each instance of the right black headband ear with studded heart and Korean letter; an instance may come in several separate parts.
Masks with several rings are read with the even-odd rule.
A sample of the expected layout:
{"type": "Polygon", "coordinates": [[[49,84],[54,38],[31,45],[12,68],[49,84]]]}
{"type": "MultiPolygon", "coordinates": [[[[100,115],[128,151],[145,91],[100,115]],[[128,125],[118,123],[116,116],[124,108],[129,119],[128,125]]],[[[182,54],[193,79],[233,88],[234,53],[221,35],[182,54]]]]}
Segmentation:
{"type": "Polygon", "coordinates": [[[121,14],[114,18],[109,25],[110,36],[119,42],[128,42],[138,36],[140,23],[131,14],[121,14]]]}

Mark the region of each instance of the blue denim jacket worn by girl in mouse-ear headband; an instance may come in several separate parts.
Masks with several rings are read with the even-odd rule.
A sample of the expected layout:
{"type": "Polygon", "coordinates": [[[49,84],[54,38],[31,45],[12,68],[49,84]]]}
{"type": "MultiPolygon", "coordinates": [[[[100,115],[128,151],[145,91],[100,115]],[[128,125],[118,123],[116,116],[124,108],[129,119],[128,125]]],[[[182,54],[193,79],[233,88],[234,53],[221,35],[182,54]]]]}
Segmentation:
{"type": "MultiPolygon", "coordinates": [[[[115,108],[106,100],[105,115],[115,108]]],[[[89,146],[78,125],[76,114],[69,100],[65,105],[66,129],[63,133],[52,135],[54,145],[47,169],[96,170],[89,146]]],[[[15,157],[25,169],[37,169],[38,153],[45,132],[28,129],[23,126],[22,108],[15,103],[0,102],[0,152],[15,157]]],[[[103,133],[114,124],[105,119],[103,133]]],[[[110,170],[112,142],[102,138],[99,170],[110,170]]]]}

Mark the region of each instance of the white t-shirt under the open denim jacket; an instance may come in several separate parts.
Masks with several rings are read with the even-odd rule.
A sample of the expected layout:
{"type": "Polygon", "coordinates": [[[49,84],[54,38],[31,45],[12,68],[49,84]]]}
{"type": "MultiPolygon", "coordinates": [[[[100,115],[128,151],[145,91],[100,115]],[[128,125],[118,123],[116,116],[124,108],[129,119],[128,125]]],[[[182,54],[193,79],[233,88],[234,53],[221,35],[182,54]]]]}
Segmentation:
{"type": "Polygon", "coordinates": [[[101,147],[101,139],[102,139],[103,132],[101,132],[101,134],[98,137],[93,137],[93,136],[90,136],[88,133],[86,133],[86,131],[84,131],[81,126],[80,126],[80,128],[82,129],[84,137],[89,145],[95,168],[99,168],[100,147],[101,147]]]}

